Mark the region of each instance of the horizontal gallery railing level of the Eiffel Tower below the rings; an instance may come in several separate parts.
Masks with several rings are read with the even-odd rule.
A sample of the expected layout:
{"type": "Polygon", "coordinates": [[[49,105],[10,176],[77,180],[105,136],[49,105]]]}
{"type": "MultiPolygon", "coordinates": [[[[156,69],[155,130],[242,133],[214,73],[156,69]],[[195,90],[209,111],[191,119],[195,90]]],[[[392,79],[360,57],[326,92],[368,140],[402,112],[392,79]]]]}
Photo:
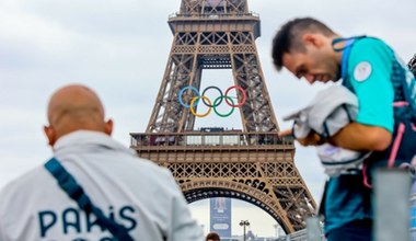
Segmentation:
{"type": "Polygon", "coordinates": [[[224,131],[185,131],[185,133],[135,133],[131,136],[131,147],[183,146],[183,147],[259,147],[285,146],[293,148],[291,138],[280,138],[277,133],[242,133],[241,130],[224,131]]]}

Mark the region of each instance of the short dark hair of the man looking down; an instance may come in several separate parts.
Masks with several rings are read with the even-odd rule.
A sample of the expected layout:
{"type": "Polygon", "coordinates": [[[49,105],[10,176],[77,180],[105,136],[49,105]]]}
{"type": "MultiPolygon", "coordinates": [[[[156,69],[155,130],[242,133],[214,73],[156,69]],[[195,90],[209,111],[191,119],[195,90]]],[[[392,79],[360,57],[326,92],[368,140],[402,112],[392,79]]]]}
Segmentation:
{"type": "Polygon", "coordinates": [[[312,18],[294,19],[285,23],[273,38],[271,57],[277,70],[284,67],[284,54],[297,50],[305,51],[302,44],[304,33],[335,34],[328,26],[312,18]]]}

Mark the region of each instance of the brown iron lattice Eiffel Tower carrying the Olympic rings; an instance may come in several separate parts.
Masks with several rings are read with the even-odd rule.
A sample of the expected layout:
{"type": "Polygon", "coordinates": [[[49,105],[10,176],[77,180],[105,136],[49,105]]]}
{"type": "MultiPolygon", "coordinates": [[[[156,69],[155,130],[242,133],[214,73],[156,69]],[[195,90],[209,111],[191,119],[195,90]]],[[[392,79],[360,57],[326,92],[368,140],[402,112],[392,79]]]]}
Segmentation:
{"type": "Polygon", "coordinates": [[[293,141],[277,136],[255,45],[259,23],[247,0],[182,0],[169,18],[174,38],[153,112],[146,133],[130,134],[131,148],[170,169],[188,203],[242,199],[291,233],[316,204],[294,165],[293,141]],[[212,104],[199,94],[205,69],[232,70],[242,129],[194,129],[203,101],[231,101],[221,93],[212,104]]]}

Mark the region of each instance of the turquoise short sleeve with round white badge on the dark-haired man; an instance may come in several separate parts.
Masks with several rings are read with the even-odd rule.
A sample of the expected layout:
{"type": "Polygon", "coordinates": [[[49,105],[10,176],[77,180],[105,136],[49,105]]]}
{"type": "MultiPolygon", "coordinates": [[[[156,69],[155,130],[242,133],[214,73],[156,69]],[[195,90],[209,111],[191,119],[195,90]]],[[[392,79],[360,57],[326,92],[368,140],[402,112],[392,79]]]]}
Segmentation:
{"type": "Polygon", "coordinates": [[[356,120],[391,133],[394,125],[393,58],[393,51],[383,42],[365,38],[355,44],[348,60],[348,76],[359,103],[356,120]]]}

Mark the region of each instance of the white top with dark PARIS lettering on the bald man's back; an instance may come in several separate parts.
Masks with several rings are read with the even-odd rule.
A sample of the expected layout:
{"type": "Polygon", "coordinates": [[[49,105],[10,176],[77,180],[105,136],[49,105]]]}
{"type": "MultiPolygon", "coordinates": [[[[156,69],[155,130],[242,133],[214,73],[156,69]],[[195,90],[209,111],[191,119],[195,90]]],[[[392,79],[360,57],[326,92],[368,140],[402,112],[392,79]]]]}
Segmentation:
{"type": "MultiPolygon", "coordinates": [[[[140,159],[109,136],[79,130],[60,138],[56,159],[93,204],[139,241],[204,240],[169,170],[140,159]]],[[[0,241],[114,240],[38,167],[0,193],[0,241]]]]}

